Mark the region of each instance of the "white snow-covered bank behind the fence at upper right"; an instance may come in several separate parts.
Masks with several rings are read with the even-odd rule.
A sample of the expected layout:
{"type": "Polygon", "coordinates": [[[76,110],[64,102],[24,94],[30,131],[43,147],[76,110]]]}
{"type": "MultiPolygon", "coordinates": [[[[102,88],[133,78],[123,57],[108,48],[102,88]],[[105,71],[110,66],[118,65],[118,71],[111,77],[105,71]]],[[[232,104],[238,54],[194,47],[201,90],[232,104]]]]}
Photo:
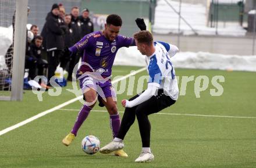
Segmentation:
{"type": "MultiPolygon", "coordinates": [[[[173,8],[179,11],[179,2],[168,1],[173,8]]],[[[207,27],[207,9],[204,5],[182,3],[181,13],[184,19],[189,22],[198,34],[215,35],[216,28],[207,27]]],[[[155,8],[155,23],[153,26],[154,33],[178,33],[178,25],[179,15],[177,15],[177,13],[175,13],[164,0],[159,0],[157,7],[155,8]]],[[[226,26],[225,28],[221,27],[221,23],[219,23],[219,25],[219,35],[242,36],[246,34],[246,30],[239,26],[238,23],[237,26],[226,26]]],[[[184,35],[194,34],[191,28],[187,26],[183,20],[180,20],[180,32],[184,35]]]]}

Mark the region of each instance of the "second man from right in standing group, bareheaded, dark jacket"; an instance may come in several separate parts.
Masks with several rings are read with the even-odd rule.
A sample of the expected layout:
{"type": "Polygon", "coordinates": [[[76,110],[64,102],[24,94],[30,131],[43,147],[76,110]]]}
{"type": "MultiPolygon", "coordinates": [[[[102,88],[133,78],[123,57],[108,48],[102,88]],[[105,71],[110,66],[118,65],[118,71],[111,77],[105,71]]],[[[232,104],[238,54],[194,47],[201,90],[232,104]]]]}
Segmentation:
{"type": "MultiPolygon", "coordinates": [[[[73,30],[72,45],[81,39],[81,22],[79,20],[79,8],[74,6],[71,9],[71,28],[73,30]]],[[[69,74],[67,80],[72,81],[72,72],[74,66],[79,62],[79,59],[83,53],[77,52],[76,55],[73,55],[69,63],[69,74]]],[[[76,72],[76,70],[74,70],[76,72]]]]}

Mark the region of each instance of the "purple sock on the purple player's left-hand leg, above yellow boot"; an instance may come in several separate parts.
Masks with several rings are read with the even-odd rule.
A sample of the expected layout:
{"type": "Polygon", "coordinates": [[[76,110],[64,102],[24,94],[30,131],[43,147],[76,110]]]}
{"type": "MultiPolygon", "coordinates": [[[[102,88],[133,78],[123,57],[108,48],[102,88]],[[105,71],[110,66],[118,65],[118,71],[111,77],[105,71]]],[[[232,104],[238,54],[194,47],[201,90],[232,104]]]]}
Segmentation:
{"type": "Polygon", "coordinates": [[[83,107],[81,108],[81,110],[78,113],[78,116],[76,118],[76,123],[74,123],[74,127],[71,131],[72,134],[74,134],[74,135],[77,134],[77,131],[79,130],[79,128],[83,124],[84,120],[86,120],[87,116],[89,115],[90,110],[91,110],[90,107],[83,105],[83,107]]]}

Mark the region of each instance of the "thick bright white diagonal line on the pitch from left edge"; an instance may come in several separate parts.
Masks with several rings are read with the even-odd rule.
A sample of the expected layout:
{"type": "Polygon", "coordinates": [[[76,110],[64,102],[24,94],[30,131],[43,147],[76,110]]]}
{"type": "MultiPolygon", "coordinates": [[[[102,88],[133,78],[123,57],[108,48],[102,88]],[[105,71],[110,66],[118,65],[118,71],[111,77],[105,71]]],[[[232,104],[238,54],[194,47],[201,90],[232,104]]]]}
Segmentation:
{"type": "MultiPolygon", "coordinates": [[[[112,84],[118,83],[119,81],[124,80],[125,78],[128,78],[128,77],[130,77],[130,76],[133,76],[133,75],[135,75],[135,74],[137,74],[137,73],[143,72],[145,69],[146,69],[146,68],[143,67],[143,68],[138,69],[138,70],[136,70],[136,71],[134,71],[134,72],[132,72],[132,73],[130,73],[130,74],[127,74],[126,76],[123,76],[123,77],[120,77],[120,78],[118,78],[118,79],[116,79],[116,80],[113,80],[112,84]]],[[[3,134],[6,134],[6,133],[8,133],[9,131],[12,131],[12,130],[14,130],[14,129],[16,129],[16,128],[19,128],[19,127],[21,127],[21,126],[24,126],[25,124],[30,123],[31,121],[34,121],[34,120],[36,120],[36,119],[38,119],[38,118],[40,118],[40,117],[42,117],[42,116],[45,116],[45,115],[47,115],[48,113],[54,112],[55,110],[58,110],[58,109],[61,109],[61,108],[63,108],[64,106],[69,105],[70,103],[76,102],[76,101],[78,101],[79,99],[82,99],[82,98],[83,98],[82,95],[81,95],[81,96],[78,96],[78,97],[76,97],[76,98],[73,98],[73,99],[71,99],[71,100],[69,100],[69,101],[66,101],[66,102],[62,103],[61,105],[55,106],[54,108],[51,108],[51,109],[46,110],[46,111],[44,111],[44,112],[38,113],[38,115],[35,115],[35,116],[33,116],[33,117],[30,117],[29,119],[26,119],[26,120],[24,120],[24,121],[22,121],[22,122],[20,122],[20,123],[17,123],[17,124],[15,124],[15,125],[13,125],[13,126],[10,126],[10,127],[8,127],[8,128],[5,128],[5,129],[3,129],[3,130],[0,131],[0,136],[3,135],[3,134]]]]}

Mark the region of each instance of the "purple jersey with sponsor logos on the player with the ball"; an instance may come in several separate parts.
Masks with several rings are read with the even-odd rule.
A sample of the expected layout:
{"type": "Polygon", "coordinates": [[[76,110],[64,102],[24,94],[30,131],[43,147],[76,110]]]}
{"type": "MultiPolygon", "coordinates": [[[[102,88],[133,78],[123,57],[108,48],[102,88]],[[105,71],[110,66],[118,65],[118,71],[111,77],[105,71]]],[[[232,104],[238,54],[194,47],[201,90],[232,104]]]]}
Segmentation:
{"type": "MultiPolygon", "coordinates": [[[[69,50],[72,52],[83,52],[82,62],[88,63],[94,71],[101,73],[103,77],[111,76],[113,62],[116,52],[121,47],[134,46],[133,38],[118,35],[114,41],[109,41],[102,34],[102,31],[95,31],[84,36],[69,50]]],[[[92,72],[88,65],[82,65],[78,74],[92,72]]]]}

